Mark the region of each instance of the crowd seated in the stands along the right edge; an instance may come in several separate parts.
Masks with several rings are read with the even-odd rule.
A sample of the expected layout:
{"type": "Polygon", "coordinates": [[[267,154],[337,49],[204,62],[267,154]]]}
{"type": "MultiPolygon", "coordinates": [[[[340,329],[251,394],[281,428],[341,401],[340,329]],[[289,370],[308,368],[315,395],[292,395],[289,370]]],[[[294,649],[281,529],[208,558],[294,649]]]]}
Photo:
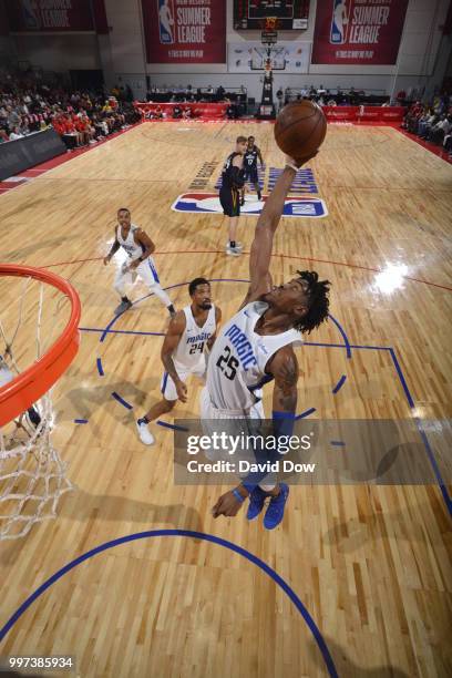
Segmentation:
{"type": "Polygon", "coordinates": [[[436,95],[430,104],[415,101],[407,111],[402,127],[424,141],[442,145],[452,157],[452,94],[436,95]]]}

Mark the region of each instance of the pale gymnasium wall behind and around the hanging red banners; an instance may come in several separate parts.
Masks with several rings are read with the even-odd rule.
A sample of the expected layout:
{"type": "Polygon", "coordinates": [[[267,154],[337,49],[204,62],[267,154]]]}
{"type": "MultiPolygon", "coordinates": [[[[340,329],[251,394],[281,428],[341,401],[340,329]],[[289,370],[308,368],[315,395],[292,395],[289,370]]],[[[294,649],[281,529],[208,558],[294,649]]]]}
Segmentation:
{"type": "MultiPolygon", "coordinates": [[[[220,2],[222,0],[218,0],[220,2]]],[[[227,42],[259,40],[260,33],[235,31],[233,0],[227,2],[227,42]]],[[[311,0],[309,28],[299,32],[280,32],[279,38],[302,41],[310,49],[314,39],[317,2],[311,0]]],[[[330,1],[330,0],[328,0],[330,1]]],[[[309,65],[304,74],[275,74],[276,88],[323,84],[326,88],[355,86],[391,93],[400,89],[419,88],[429,82],[429,89],[441,84],[451,41],[442,37],[450,0],[410,0],[397,65],[309,65]]],[[[104,69],[107,85],[114,82],[130,84],[137,99],[146,91],[146,75],[156,85],[186,85],[194,88],[222,83],[225,88],[244,84],[248,94],[260,97],[260,73],[229,73],[227,64],[148,64],[145,58],[141,0],[104,0],[107,34],[71,33],[64,35],[14,35],[19,59],[28,60],[44,70],[104,69]]]]}

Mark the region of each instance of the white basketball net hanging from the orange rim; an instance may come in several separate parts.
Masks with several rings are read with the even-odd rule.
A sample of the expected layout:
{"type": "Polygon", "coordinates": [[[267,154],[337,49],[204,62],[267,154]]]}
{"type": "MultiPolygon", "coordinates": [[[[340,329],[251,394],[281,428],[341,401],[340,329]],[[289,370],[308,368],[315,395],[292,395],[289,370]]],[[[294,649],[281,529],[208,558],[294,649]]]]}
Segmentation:
{"type": "MultiPolygon", "coordinates": [[[[21,369],[14,346],[23,325],[23,306],[31,278],[22,279],[16,327],[7,337],[0,317],[0,387],[21,369]]],[[[41,357],[44,284],[39,282],[35,329],[37,360],[41,357]]],[[[56,311],[59,304],[56,305],[56,311]]],[[[52,445],[54,414],[50,392],[3,429],[0,428],[0,541],[24,536],[34,523],[56,517],[60,496],[73,489],[66,464],[52,445]]]]}

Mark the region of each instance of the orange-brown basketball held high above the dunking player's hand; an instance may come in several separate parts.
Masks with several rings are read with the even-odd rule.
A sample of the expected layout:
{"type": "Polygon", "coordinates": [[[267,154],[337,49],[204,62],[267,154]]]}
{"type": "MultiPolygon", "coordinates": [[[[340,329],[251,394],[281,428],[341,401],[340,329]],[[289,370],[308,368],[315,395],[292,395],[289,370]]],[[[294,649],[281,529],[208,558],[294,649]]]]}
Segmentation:
{"type": "Polygon", "coordinates": [[[327,120],[319,105],[309,100],[287,104],[275,123],[275,141],[295,160],[310,155],[323,143],[327,120]]]}

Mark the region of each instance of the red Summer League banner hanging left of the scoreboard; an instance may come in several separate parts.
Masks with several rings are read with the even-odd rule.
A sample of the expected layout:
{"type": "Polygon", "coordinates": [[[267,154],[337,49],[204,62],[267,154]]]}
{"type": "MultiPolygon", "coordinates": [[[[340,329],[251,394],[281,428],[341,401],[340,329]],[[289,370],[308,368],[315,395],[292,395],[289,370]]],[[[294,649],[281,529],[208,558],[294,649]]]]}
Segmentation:
{"type": "Polygon", "coordinates": [[[142,0],[147,63],[225,63],[226,2],[142,0]]]}

